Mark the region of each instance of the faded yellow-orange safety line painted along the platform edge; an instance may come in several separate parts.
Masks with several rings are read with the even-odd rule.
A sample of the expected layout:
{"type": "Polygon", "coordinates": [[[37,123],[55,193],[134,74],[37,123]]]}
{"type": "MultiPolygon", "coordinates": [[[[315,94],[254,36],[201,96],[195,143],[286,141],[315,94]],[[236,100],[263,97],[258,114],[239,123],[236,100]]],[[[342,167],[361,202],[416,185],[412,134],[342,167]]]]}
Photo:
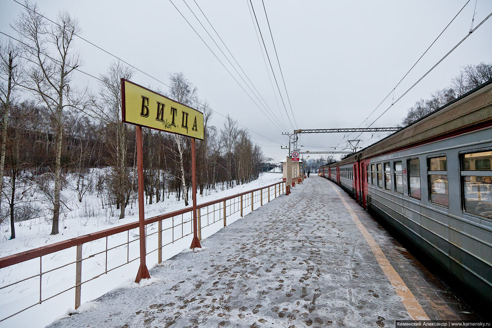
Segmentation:
{"type": "Polygon", "coordinates": [[[383,269],[384,274],[386,274],[386,276],[390,280],[390,283],[393,285],[393,287],[395,287],[398,296],[400,296],[401,298],[401,303],[403,303],[403,305],[405,306],[406,311],[408,312],[410,317],[412,317],[413,320],[430,320],[422,306],[420,306],[419,301],[415,298],[415,296],[413,296],[412,292],[408,289],[403,280],[401,280],[400,275],[390,264],[379,245],[371,237],[366,227],[364,227],[362,222],[359,220],[357,214],[355,214],[354,210],[348,205],[345,199],[343,199],[337,188],[332,183],[330,184],[332,185],[332,188],[337,192],[338,196],[340,196],[343,205],[350,213],[350,216],[352,217],[352,220],[354,220],[355,225],[364,236],[364,239],[366,239],[370,249],[372,250],[372,253],[374,254],[374,257],[379,263],[379,266],[381,267],[381,269],[383,269]]]}

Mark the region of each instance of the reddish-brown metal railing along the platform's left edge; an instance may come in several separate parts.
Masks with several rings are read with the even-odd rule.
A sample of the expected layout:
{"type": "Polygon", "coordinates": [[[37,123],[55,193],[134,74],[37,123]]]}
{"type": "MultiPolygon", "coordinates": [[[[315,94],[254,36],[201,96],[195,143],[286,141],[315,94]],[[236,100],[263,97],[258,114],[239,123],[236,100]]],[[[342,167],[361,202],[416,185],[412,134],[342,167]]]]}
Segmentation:
{"type": "MultiPolygon", "coordinates": [[[[252,211],[255,204],[260,203],[259,206],[262,206],[265,201],[270,202],[272,198],[277,198],[284,193],[284,183],[285,181],[281,181],[198,204],[197,233],[199,239],[202,239],[202,234],[204,232],[207,233],[207,228],[213,224],[223,222],[225,227],[227,225],[227,217],[238,212],[243,217],[245,209],[248,210],[250,207],[252,211]]],[[[157,252],[157,263],[161,263],[162,250],[165,246],[193,235],[192,213],[193,208],[187,207],[145,219],[146,254],[157,252]],[[152,241],[156,241],[157,246],[149,249],[148,246],[152,241]]],[[[6,306],[9,304],[7,303],[2,306],[0,323],[71,290],[75,291],[75,308],[79,307],[81,304],[82,285],[140,258],[138,227],[138,221],[128,223],[0,258],[1,283],[6,282],[5,285],[0,285],[0,293],[9,294],[9,303],[14,304],[13,306],[6,306]],[[124,242],[121,242],[121,239],[124,239],[121,236],[122,234],[123,236],[126,234],[126,241],[124,242]],[[131,249],[131,245],[135,245],[133,249],[131,249]],[[75,260],[59,264],[59,260],[73,256],[73,254],[66,253],[74,247],[76,249],[75,260]],[[96,250],[92,251],[92,248],[96,250]],[[126,248],[125,252],[123,248],[126,248]],[[89,254],[86,255],[85,253],[89,254]],[[33,261],[38,261],[39,265],[33,264],[33,261]],[[101,265],[101,261],[104,262],[104,266],[101,265]],[[90,267],[84,272],[83,263],[86,263],[84,268],[90,267]],[[23,267],[21,270],[15,269],[13,266],[27,268],[24,269],[23,267]],[[6,270],[10,271],[7,273],[6,270]],[[33,270],[35,270],[35,273],[32,272],[33,270]],[[11,275],[11,272],[14,272],[14,274],[11,275]],[[55,284],[53,282],[48,284],[51,273],[54,272],[56,272],[57,278],[63,278],[56,281],[55,284]],[[84,276],[88,275],[85,280],[82,279],[83,273],[84,276]],[[74,281],[74,284],[69,282],[69,279],[73,278],[75,279],[71,281],[74,281]],[[19,288],[19,285],[23,283],[26,286],[19,288]],[[32,288],[38,289],[39,292],[35,293],[38,297],[36,296],[35,300],[26,306],[25,298],[20,295],[26,290],[32,292],[32,288]],[[16,292],[17,289],[19,292],[16,292]],[[13,293],[10,294],[11,292],[13,293]]],[[[51,279],[53,281],[53,278],[51,279]]],[[[30,296],[32,298],[34,294],[31,293],[30,296]]]]}

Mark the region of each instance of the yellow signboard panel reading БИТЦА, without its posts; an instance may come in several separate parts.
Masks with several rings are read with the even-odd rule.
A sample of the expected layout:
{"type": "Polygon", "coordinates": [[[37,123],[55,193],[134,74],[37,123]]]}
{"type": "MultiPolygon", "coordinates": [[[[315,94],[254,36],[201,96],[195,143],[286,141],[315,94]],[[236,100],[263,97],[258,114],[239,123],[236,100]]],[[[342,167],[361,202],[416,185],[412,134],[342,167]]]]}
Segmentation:
{"type": "Polygon", "coordinates": [[[123,122],[203,140],[203,113],[122,79],[123,122]]]}

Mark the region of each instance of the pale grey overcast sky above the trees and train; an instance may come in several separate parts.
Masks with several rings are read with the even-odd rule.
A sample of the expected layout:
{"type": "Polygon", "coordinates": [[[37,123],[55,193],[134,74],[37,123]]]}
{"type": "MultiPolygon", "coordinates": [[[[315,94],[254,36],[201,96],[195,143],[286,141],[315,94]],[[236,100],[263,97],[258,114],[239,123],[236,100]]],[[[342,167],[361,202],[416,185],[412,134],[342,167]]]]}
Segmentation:
{"type": "MultiPolygon", "coordinates": [[[[186,7],[184,0],[172,1],[259,104],[186,7]]],[[[294,119],[283,89],[262,2],[252,0],[286,110],[276,90],[277,106],[250,16],[249,2],[196,1],[265,99],[280,129],[289,133],[292,133],[293,128],[286,110],[296,129],[357,127],[361,123],[365,126],[364,120],[369,113],[395,87],[466,3],[466,0],[266,0],[265,7],[294,119]]],[[[186,3],[209,32],[214,33],[195,2],[186,0],[186,3]]],[[[286,146],[287,143],[279,129],[238,86],[171,1],[44,0],[38,1],[38,7],[50,19],[54,19],[60,10],[68,11],[78,19],[84,38],[161,81],[168,83],[170,73],[183,72],[198,88],[199,97],[206,99],[213,110],[222,115],[230,114],[240,124],[262,135],[250,131],[252,140],[264,145],[265,155],[277,161],[287,154],[286,150],[280,149],[280,145],[286,146]]],[[[470,0],[395,90],[395,99],[468,33],[474,8],[475,0],[470,0]]],[[[21,6],[16,2],[0,0],[0,31],[15,35],[9,24],[17,19],[20,10],[21,6]]],[[[492,1],[477,0],[474,26],[491,12],[492,1]]],[[[215,40],[228,54],[217,37],[215,40]]],[[[83,40],[76,39],[76,47],[84,59],[81,69],[92,75],[98,76],[104,72],[114,60],[83,40]]],[[[230,56],[229,59],[234,62],[230,56]]],[[[396,126],[417,100],[426,99],[431,92],[447,87],[463,66],[481,61],[492,61],[492,18],[473,32],[373,126],[396,126]]],[[[76,81],[81,87],[99,87],[96,80],[77,74],[76,81]]],[[[139,72],[135,72],[132,80],[154,89],[168,89],[139,72]]],[[[275,80],[272,81],[277,89],[275,80]]],[[[367,124],[386,110],[391,101],[392,96],[368,119],[367,124]]],[[[212,123],[222,127],[223,117],[214,114],[212,123]]],[[[365,133],[360,137],[363,140],[361,144],[375,142],[379,140],[378,136],[378,133],[365,133]]],[[[337,150],[341,150],[346,146],[345,142],[340,143],[343,137],[343,134],[301,134],[299,145],[305,146],[303,151],[315,151],[330,150],[326,147],[339,144],[337,150]]]]}

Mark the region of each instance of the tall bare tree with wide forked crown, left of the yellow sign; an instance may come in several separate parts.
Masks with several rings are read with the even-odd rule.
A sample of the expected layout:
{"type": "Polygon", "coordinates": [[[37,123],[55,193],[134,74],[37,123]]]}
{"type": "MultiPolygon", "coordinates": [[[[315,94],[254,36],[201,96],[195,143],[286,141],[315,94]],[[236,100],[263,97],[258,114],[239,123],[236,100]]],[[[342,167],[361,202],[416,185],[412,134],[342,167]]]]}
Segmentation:
{"type": "Polygon", "coordinates": [[[73,39],[80,32],[78,22],[68,13],[58,14],[56,23],[48,25],[36,13],[36,4],[26,1],[26,8],[19,15],[13,28],[26,44],[24,51],[32,65],[29,79],[23,85],[38,95],[51,112],[56,124],[56,152],[54,174],[54,206],[52,235],[58,234],[60,216],[60,174],[63,138],[63,110],[77,107],[74,92],[70,89],[74,70],[81,65],[79,55],[73,52],[73,39]],[[50,49],[54,50],[52,55],[50,49]]]}

